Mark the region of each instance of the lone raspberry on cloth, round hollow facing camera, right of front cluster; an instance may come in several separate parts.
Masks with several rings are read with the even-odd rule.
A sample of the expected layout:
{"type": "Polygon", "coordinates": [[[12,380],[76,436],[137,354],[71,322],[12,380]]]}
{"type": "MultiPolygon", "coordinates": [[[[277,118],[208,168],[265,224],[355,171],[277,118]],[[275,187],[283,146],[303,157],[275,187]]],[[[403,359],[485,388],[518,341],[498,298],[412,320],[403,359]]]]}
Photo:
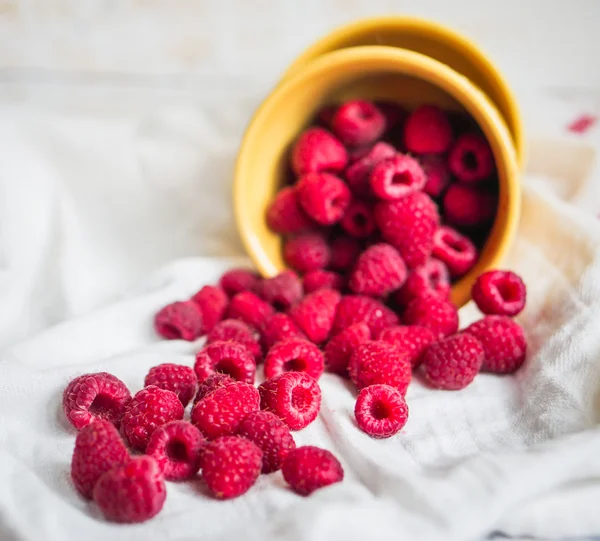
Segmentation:
{"type": "Polygon", "coordinates": [[[389,385],[370,385],[358,393],[354,405],[358,428],[374,438],[389,438],[400,432],[408,420],[408,406],[402,394],[389,385]]]}

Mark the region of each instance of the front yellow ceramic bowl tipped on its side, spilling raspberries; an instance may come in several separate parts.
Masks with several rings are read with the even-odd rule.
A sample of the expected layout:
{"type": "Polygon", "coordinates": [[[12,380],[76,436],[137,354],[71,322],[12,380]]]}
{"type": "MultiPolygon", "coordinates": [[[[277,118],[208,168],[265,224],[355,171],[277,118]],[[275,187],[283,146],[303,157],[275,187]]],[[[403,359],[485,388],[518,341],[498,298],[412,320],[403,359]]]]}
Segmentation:
{"type": "Polygon", "coordinates": [[[268,229],[265,212],[285,181],[290,146],[323,105],[358,97],[409,108],[436,103],[464,110],[491,145],[499,206],[477,264],[453,286],[452,298],[462,306],[475,278],[500,265],[514,238],[520,209],[517,157],[506,124],[486,95],[446,64],[413,51],[362,46],[327,53],[299,68],[268,96],[250,122],[236,164],[234,210],[246,250],[264,276],[285,268],[282,239],[268,229]]]}

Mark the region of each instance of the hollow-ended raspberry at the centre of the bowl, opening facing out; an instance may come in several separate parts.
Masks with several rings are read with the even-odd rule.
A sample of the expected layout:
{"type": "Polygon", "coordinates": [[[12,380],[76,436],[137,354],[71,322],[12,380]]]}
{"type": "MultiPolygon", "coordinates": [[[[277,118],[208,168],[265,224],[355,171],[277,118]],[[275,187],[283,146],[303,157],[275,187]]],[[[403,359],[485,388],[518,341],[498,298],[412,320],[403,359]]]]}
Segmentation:
{"type": "Polygon", "coordinates": [[[392,201],[422,189],[427,177],[417,160],[406,154],[396,154],[373,168],[370,182],[379,199],[392,201]]]}

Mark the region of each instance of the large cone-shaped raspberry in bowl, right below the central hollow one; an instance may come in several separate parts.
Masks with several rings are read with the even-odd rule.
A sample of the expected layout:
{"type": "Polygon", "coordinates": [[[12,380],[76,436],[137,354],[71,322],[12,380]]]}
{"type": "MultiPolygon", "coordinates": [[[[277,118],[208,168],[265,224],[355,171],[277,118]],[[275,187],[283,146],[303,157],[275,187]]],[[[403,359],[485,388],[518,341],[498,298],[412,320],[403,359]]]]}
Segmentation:
{"type": "Polygon", "coordinates": [[[439,225],[435,203],[422,192],[375,206],[375,221],[383,238],[396,248],[409,269],[425,263],[439,225]]]}

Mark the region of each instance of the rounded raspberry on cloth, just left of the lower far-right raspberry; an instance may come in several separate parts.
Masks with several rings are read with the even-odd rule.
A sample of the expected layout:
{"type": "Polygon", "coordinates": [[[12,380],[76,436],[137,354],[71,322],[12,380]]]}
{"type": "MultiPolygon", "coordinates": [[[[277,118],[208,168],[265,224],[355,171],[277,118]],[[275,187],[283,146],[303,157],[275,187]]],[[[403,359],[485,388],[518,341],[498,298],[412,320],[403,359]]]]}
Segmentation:
{"type": "Polygon", "coordinates": [[[475,379],[484,359],[479,340],[466,333],[442,338],[423,357],[425,379],[438,389],[464,389],[475,379]]]}

